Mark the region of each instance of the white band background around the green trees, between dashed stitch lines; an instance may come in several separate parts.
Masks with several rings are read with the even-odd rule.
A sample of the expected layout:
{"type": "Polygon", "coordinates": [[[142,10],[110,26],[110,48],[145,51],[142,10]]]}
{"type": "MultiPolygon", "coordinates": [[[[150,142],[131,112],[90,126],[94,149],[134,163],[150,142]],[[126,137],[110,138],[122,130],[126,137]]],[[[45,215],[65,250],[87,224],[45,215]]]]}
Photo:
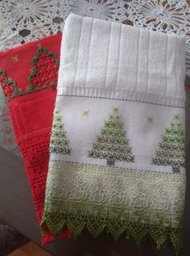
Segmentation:
{"type": "MultiPolygon", "coordinates": [[[[81,97],[58,97],[57,106],[63,116],[64,129],[67,132],[71,155],[52,154],[52,160],[66,162],[82,162],[105,166],[105,159],[88,157],[88,152],[97,141],[104,121],[108,118],[112,107],[118,107],[122,115],[126,137],[129,139],[134,162],[116,161],[114,166],[135,170],[149,170],[172,173],[171,166],[153,166],[151,158],[155,157],[156,149],[169,122],[169,116],[180,114],[184,128],[184,108],[165,107],[147,103],[117,101],[114,99],[91,99],[81,97]],[[89,116],[82,116],[83,110],[89,116]],[[147,116],[153,116],[149,124],[147,116]]],[[[180,168],[184,173],[184,168],[180,168]]]]}

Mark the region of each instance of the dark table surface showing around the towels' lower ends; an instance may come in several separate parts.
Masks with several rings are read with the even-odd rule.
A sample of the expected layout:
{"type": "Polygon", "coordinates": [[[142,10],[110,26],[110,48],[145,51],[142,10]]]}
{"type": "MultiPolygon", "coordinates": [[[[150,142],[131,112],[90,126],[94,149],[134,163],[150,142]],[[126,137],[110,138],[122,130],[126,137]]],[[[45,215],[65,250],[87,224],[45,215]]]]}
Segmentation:
{"type": "MultiPolygon", "coordinates": [[[[188,147],[188,166],[190,166],[190,145],[188,147]]],[[[190,177],[187,169],[187,178],[190,177]]],[[[184,218],[184,246],[180,256],[190,255],[190,182],[187,184],[187,196],[184,218]],[[189,207],[188,207],[189,206],[189,207]]],[[[39,224],[35,216],[31,191],[22,159],[0,147],[0,219],[5,220],[20,233],[35,241],[39,246],[41,237],[39,224]]],[[[169,248],[156,250],[151,239],[140,246],[134,241],[122,237],[114,241],[108,234],[90,237],[89,233],[77,240],[63,239],[43,247],[55,256],[171,256],[175,255],[169,248]]]]}

